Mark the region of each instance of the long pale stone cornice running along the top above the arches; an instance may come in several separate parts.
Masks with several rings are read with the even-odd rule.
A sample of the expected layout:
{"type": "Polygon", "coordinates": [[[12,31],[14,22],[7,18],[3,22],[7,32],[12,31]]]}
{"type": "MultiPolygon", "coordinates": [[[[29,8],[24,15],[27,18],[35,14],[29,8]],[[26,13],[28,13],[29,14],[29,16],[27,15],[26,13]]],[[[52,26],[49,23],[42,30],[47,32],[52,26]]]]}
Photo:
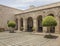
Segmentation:
{"type": "MultiPolygon", "coordinates": [[[[44,10],[44,9],[49,9],[49,8],[55,8],[55,7],[60,7],[60,2],[48,4],[48,5],[45,5],[45,6],[36,7],[34,9],[30,9],[30,10],[25,10],[24,12],[21,12],[19,14],[24,14],[24,13],[28,13],[28,12],[37,11],[37,10],[44,10]]],[[[18,14],[16,14],[16,15],[18,15],[18,14]]]]}

